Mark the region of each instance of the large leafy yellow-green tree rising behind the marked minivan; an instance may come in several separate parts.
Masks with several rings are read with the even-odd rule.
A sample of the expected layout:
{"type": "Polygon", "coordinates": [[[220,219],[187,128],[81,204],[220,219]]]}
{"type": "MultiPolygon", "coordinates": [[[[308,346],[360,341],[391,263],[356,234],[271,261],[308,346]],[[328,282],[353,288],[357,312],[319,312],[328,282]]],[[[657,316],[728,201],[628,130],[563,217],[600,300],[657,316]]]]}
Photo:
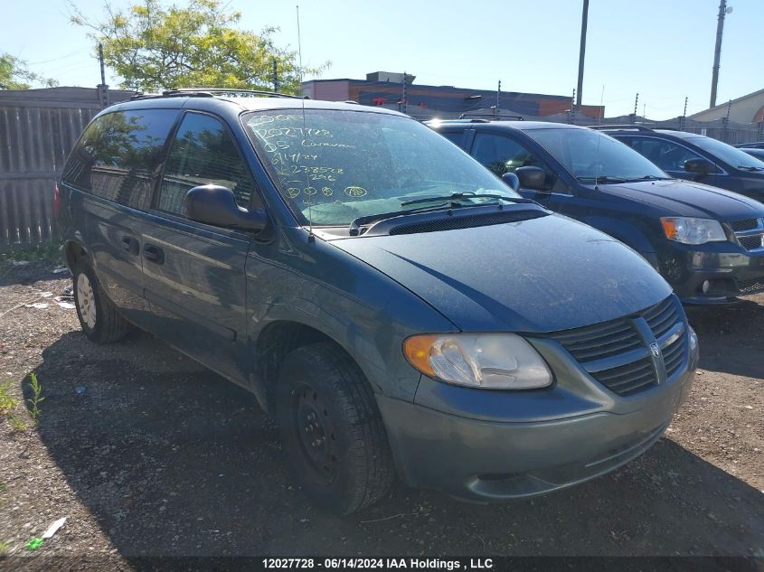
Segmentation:
{"type": "MultiPolygon", "coordinates": [[[[272,89],[275,60],[279,90],[299,92],[297,54],[276,46],[277,28],[259,34],[240,30],[241,13],[226,12],[220,0],[189,0],[185,7],[145,0],[127,10],[106,0],[99,22],[71,0],[69,6],[71,22],[90,28],[94,42],[103,44],[104,61],[122,78],[123,88],[272,89]]],[[[317,73],[328,65],[302,71],[317,73]]]]}

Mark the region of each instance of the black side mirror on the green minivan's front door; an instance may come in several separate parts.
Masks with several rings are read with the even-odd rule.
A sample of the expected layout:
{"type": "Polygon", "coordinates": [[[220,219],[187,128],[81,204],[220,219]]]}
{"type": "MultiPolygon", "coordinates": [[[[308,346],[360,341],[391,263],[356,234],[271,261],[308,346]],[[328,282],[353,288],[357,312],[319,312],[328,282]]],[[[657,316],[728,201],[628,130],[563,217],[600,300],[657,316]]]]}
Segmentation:
{"type": "Polygon", "coordinates": [[[233,191],[218,184],[193,187],[185,195],[185,216],[215,227],[241,230],[263,230],[268,224],[265,212],[242,209],[233,191]]]}

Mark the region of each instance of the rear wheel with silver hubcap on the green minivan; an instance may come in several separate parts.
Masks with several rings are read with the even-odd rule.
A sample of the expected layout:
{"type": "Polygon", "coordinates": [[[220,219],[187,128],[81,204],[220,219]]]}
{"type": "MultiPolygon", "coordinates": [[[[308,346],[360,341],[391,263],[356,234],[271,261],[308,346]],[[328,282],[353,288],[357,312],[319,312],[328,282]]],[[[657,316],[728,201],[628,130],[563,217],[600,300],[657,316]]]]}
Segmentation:
{"type": "Polygon", "coordinates": [[[91,342],[111,343],[123,339],[130,324],[101,288],[87,259],[80,258],[72,272],[72,290],[82,332],[91,342]]]}

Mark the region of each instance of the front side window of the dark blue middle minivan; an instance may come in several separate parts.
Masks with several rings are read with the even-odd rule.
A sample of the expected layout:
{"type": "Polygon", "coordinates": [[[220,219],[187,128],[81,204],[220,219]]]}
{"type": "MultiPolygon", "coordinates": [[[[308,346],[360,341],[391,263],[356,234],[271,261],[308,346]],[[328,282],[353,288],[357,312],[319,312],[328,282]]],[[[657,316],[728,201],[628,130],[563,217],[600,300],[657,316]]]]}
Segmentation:
{"type": "MultiPolygon", "coordinates": [[[[552,186],[558,181],[557,174],[542,161],[541,157],[527,149],[513,138],[492,133],[478,133],[472,145],[472,156],[486,165],[497,176],[514,173],[518,167],[538,167],[546,173],[546,183],[552,186]]],[[[555,191],[564,188],[560,181],[555,191]]]]}

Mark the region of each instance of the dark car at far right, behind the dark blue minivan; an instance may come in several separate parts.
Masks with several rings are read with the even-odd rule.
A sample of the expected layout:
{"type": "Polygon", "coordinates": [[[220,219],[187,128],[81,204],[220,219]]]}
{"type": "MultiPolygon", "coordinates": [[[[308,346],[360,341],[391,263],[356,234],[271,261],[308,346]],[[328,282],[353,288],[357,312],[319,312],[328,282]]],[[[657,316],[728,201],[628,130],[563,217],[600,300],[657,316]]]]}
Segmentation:
{"type": "Polygon", "coordinates": [[[645,155],[677,179],[710,184],[764,202],[764,162],[717,139],[641,126],[593,127],[645,155]]]}

